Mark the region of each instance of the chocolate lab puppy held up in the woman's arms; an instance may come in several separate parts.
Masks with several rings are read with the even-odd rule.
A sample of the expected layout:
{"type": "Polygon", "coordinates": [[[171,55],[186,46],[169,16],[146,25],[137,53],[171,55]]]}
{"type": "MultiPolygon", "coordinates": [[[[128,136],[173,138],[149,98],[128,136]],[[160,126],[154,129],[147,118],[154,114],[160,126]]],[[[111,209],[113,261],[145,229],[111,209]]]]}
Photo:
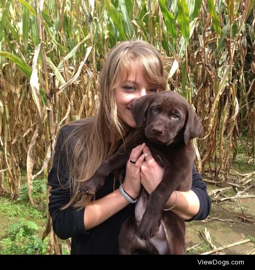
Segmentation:
{"type": "Polygon", "coordinates": [[[81,192],[98,191],[112,171],[125,166],[132,149],[145,142],[165,174],[149,196],[141,192],[136,220],[130,217],[122,226],[120,253],[145,249],[151,254],[184,254],[185,224],[176,214],[163,209],[173,191],[191,188],[195,151],[190,140],[201,132],[201,123],[186,99],[173,91],[143,96],[132,102],[131,110],[138,126],[135,136],[82,183],[81,192]]]}

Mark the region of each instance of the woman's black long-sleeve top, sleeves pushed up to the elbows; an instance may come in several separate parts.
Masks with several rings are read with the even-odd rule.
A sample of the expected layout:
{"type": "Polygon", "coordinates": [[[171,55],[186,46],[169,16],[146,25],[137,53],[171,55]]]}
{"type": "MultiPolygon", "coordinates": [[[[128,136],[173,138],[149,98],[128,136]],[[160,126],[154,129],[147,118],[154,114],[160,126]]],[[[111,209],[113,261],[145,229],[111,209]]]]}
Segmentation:
{"type": "MultiPolygon", "coordinates": [[[[118,254],[120,228],[125,219],[134,211],[134,204],[127,205],[105,222],[89,230],[86,230],[84,225],[85,208],[77,210],[70,206],[65,210],[60,209],[70,200],[70,189],[68,185],[65,185],[68,180],[68,168],[64,158],[65,153],[62,152],[63,150],[61,151],[63,138],[69,128],[66,126],[61,128],[55,148],[53,167],[48,174],[48,185],[52,186],[48,206],[54,232],[61,239],[72,237],[71,254],[118,254]],[[59,166],[59,170],[57,166],[59,166]]],[[[95,194],[95,199],[103,198],[113,192],[113,188],[118,188],[116,184],[113,187],[113,184],[114,176],[110,174],[105,185],[95,194]]],[[[207,194],[206,184],[194,167],[191,190],[197,195],[200,202],[199,211],[191,220],[206,219],[211,210],[211,201],[207,194]]]]}

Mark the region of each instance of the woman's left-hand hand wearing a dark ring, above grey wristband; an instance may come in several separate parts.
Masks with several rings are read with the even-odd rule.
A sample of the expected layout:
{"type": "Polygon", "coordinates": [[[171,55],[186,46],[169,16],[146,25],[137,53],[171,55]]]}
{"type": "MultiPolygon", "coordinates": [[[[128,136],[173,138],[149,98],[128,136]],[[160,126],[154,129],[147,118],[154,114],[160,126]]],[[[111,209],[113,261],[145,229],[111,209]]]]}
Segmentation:
{"type": "Polygon", "coordinates": [[[130,159],[126,164],[126,174],[123,189],[132,198],[136,199],[141,191],[141,165],[144,161],[143,149],[145,143],[133,148],[130,159]],[[131,162],[133,161],[133,163],[131,162]]]}

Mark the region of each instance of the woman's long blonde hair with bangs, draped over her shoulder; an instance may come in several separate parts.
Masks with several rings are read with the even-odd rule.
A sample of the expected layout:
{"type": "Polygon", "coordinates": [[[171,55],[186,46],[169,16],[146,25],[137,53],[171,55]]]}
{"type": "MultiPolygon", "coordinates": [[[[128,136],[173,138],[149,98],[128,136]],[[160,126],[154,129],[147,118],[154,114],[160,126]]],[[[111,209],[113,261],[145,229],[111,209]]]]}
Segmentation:
{"type": "Polygon", "coordinates": [[[148,84],[165,90],[166,79],[160,53],[141,40],[123,41],[108,53],[100,71],[100,104],[97,115],[66,125],[70,132],[63,138],[71,199],[63,209],[74,205],[83,208],[92,196],[80,195],[81,180],[90,178],[103,161],[116,150],[119,140],[125,141],[124,125],[117,115],[114,89],[125,74],[141,66],[148,84]],[[70,127],[70,128],[68,128],[70,127]]]}

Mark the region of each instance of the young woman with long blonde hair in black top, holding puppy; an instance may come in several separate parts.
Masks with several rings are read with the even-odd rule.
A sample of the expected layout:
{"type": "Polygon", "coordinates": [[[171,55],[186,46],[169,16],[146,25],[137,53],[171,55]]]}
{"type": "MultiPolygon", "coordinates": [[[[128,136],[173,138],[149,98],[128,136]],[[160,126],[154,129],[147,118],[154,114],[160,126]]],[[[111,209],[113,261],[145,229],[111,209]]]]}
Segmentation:
{"type": "MultiPolygon", "coordinates": [[[[135,206],[123,190],[137,198],[141,185],[150,194],[161,181],[163,168],[152,155],[144,156],[150,149],[142,144],[132,150],[132,162],[111,174],[94,198],[79,193],[81,180],[91,177],[136,128],[131,102],[163,91],[165,85],[160,53],[144,41],[123,41],[111,49],[100,72],[98,113],[61,128],[48,175],[49,212],[55,233],[61,239],[72,237],[71,254],[118,254],[121,225],[135,206]]],[[[191,190],[174,192],[166,208],[186,221],[208,216],[211,202],[195,168],[191,190]]]]}

